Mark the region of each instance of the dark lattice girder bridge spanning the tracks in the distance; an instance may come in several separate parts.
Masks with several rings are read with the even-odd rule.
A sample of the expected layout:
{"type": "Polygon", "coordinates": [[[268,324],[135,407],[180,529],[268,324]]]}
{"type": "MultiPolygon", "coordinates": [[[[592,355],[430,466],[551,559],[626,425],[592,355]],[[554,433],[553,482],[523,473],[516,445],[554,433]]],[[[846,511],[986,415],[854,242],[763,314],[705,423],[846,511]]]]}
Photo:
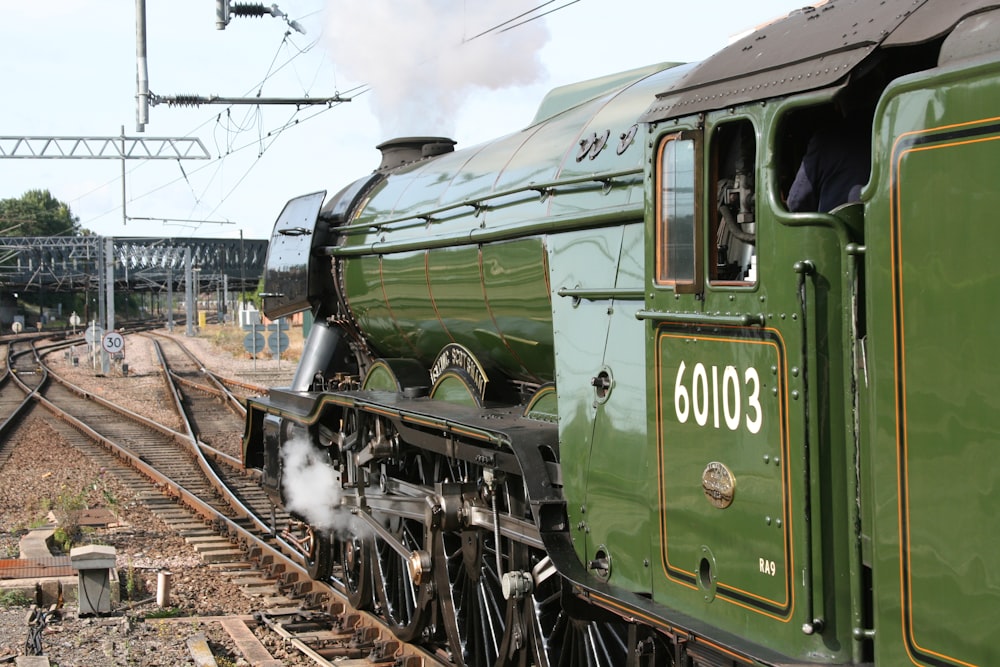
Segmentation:
{"type": "Polygon", "coordinates": [[[103,236],[0,237],[0,326],[17,295],[90,292],[91,318],[114,323],[114,294],[150,293],[190,302],[198,294],[253,291],[264,270],[266,240],[103,236]],[[183,291],[182,291],[183,290],[183,291]]]}

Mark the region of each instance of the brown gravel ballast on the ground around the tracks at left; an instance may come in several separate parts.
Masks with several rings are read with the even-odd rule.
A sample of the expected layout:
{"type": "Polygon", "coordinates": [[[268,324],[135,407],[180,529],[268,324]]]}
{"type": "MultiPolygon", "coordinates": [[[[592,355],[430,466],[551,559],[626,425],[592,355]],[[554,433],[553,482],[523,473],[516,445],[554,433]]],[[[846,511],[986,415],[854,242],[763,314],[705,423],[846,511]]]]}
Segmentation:
{"type": "MultiPolygon", "coordinates": [[[[129,374],[101,377],[85,358],[74,367],[59,354],[49,361],[57,372],[99,396],[156,419],[177,422],[163,392],[163,379],[147,339],[129,336],[126,355],[129,374]]],[[[234,378],[260,377],[264,372],[284,372],[288,384],[293,365],[271,360],[237,359],[216,350],[201,338],[184,338],[206,366],[234,378]]],[[[85,356],[82,347],[80,355],[85,356]]],[[[254,382],[253,379],[247,379],[254,382]]],[[[0,468],[0,558],[16,558],[18,541],[27,529],[39,527],[52,512],[62,515],[73,507],[105,507],[118,524],[100,528],[84,539],[114,546],[117,553],[121,600],[115,612],[102,618],[78,618],[74,601],[67,601],[61,621],[46,629],[42,646],[51,664],[60,667],[105,665],[193,665],[186,640],[204,632],[220,665],[246,664],[218,623],[199,616],[249,614],[253,601],[240,589],[202,563],[181,538],[139,504],[112,474],[81,455],[49,424],[52,419],[36,407],[5,445],[13,446],[11,458],[0,468]],[[189,617],[184,622],[154,623],[144,620],[155,604],[134,604],[156,593],[161,570],[173,573],[172,611],[189,617]]],[[[177,424],[179,426],[179,423],[177,424]]],[[[22,655],[27,637],[27,607],[14,604],[12,596],[0,597],[0,662],[22,655]]],[[[310,664],[284,654],[280,645],[268,646],[285,664],[310,664]]]]}

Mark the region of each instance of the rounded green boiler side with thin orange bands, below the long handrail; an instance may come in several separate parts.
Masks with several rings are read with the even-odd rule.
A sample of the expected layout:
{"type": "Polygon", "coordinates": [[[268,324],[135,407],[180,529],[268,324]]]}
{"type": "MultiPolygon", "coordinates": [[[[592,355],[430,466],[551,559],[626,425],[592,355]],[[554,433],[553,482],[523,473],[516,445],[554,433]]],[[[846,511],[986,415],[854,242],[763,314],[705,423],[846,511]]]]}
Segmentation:
{"type": "Polygon", "coordinates": [[[552,325],[540,238],[352,259],[349,303],[380,356],[426,365],[449,343],[492,371],[553,377],[552,325]]]}

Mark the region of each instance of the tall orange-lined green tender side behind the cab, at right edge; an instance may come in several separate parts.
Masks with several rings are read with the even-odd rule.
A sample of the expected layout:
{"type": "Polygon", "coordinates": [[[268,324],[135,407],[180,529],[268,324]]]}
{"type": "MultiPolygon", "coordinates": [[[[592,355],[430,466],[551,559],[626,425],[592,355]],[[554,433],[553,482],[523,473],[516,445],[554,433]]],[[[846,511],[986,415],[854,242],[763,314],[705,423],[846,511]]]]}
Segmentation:
{"type": "Polygon", "coordinates": [[[900,86],[869,228],[880,664],[1000,662],[996,65],[900,86]]]}

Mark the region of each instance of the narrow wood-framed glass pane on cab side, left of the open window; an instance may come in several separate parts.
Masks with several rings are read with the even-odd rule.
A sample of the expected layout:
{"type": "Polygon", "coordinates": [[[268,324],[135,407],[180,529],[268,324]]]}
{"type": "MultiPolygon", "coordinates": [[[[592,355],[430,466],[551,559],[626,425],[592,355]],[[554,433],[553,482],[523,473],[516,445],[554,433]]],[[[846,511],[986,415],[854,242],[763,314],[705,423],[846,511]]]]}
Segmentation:
{"type": "Polygon", "coordinates": [[[684,132],[665,137],[657,155],[656,280],[678,292],[700,291],[697,156],[684,132]]]}

